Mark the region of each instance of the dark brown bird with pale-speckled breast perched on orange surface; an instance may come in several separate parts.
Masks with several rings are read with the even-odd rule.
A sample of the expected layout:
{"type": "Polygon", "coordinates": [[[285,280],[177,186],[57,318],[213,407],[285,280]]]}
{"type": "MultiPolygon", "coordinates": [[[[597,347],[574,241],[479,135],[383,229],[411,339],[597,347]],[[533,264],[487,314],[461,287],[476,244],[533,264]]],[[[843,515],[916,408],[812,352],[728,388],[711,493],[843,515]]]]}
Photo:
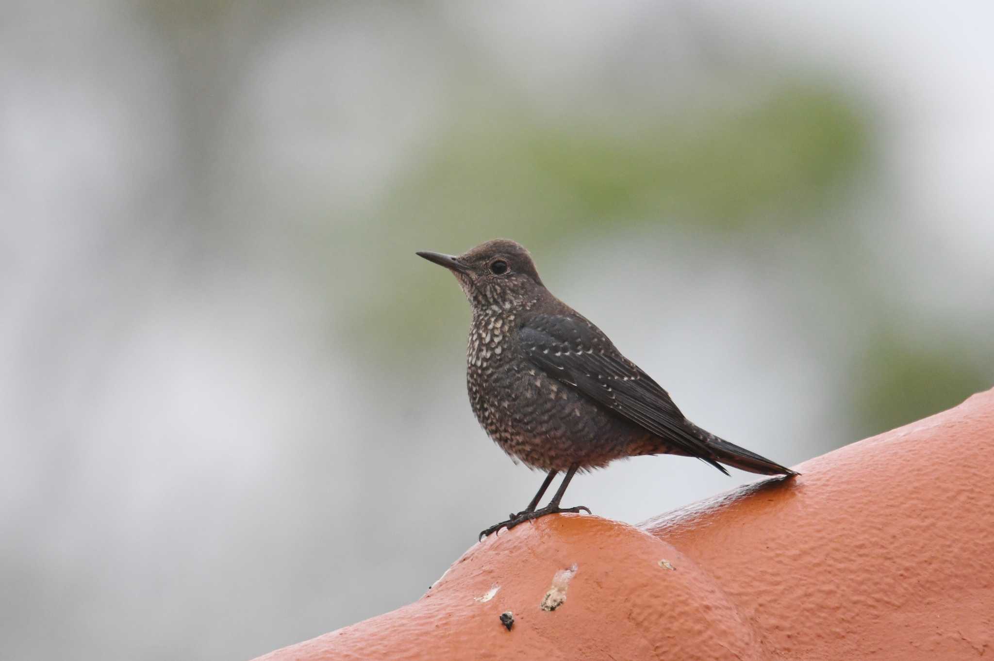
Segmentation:
{"type": "Polygon", "coordinates": [[[448,269],[472,308],[466,388],[480,426],[515,463],[546,472],[528,506],[479,539],[554,513],[578,471],[614,460],[679,455],[763,475],[799,473],[705,431],[688,420],[652,377],[626,358],[539,277],[529,251],[493,239],[461,255],[418,251],[448,269]],[[723,465],[724,464],[724,465],[723,465]],[[539,507],[553,479],[555,495],[539,507]]]}

